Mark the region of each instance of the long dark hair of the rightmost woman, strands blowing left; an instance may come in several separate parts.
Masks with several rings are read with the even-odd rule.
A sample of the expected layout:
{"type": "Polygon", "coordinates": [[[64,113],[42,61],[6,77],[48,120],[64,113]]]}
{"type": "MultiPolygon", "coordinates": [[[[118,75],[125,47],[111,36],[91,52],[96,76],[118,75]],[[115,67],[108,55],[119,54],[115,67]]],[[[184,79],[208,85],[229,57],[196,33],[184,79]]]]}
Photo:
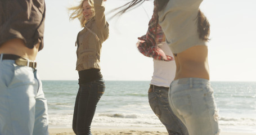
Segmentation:
{"type": "MultiPolygon", "coordinates": [[[[114,10],[120,10],[124,8],[123,10],[119,11],[115,15],[122,15],[123,13],[131,10],[131,8],[135,8],[134,6],[136,7],[140,6],[145,1],[149,1],[149,0],[132,0],[131,2],[128,2],[121,7],[115,8],[114,10]]],[[[161,11],[170,0],[155,0],[155,1],[156,1],[156,6],[158,11],[161,11]]],[[[206,19],[204,13],[201,12],[201,10],[198,10],[198,13],[197,13],[197,32],[199,34],[200,39],[204,41],[209,40],[210,24],[209,24],[209,21],[206,19]]]]}

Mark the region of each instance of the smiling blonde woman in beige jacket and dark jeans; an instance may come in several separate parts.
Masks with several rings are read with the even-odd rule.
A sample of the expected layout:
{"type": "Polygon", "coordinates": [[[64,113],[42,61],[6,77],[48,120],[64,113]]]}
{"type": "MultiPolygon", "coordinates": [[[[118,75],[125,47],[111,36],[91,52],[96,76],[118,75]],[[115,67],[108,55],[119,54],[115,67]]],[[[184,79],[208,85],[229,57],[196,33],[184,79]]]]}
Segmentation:
{"type": "Polygon", "coordinates": [[[91,134],[91,123],[96,105],[105,91],[100,71],[102,43],[109,37],[109,24],[105,19],[103,0],[84,0],[70,19],[78,18],[83,30],[77,35],[77,70],[79,89],[75,100],[73,131],[75,134],[91,134]]]}

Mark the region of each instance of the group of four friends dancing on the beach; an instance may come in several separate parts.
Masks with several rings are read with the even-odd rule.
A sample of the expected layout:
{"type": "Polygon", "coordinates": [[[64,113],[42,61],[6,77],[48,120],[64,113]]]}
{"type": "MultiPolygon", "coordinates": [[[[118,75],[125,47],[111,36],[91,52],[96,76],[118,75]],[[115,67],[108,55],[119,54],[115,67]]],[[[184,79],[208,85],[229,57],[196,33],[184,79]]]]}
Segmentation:
{"type": "MultiPolygon", "coordinates": [[[[79,19],[79,89],[73,114],[75,134],[92,134],[96,106],[105,91],[102,43],[109,37],[105,0],[82,0],[71,7],[79,19]]],[[[123,14],[146,0],[130,0],[123,14]]],[[[203,0],[154,0],[154,12],[138,50],[154,60],[149,104],[170,135],[217,135],[218,110],[210,85],[210,25],[199,6],[203,0]]],[[[47,101],[37,74],[43,49],[44,0],[0,0],[0,135],[48,133],[47,101]]],[[[116,14],[116,15],[117,15],[116,14]]]]}

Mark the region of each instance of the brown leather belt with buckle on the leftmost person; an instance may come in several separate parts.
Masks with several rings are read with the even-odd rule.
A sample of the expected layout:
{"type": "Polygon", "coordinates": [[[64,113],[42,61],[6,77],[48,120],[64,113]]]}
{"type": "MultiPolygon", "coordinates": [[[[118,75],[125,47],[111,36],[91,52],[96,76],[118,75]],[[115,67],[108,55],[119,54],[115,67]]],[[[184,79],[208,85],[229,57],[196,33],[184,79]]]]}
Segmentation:
{"type": "Polygon", "coordinates": [[[15,60],[18,66],[29,66],[30,68],[37,68],[37,62],[29,61],[17,55],[2,54],[2,60],[15,60]]]}

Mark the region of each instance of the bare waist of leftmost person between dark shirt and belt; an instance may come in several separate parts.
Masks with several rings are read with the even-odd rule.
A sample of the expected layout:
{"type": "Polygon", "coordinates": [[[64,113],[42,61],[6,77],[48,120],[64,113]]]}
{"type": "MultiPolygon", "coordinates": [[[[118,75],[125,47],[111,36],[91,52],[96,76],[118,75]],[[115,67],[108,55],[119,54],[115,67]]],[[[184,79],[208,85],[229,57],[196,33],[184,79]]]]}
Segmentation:
{"type": "Polygon", "coordinates": [[[0,54],[5,53],[5,54],[18,55],[18,56],[24,57],[25,59],[34,61],[35,58],[37,57],[39,44],[40,43],[38,43],[34,48],[30,49],[25,46],[25,43],[23,40],[11,39],[0,46],[0,54]]]}

